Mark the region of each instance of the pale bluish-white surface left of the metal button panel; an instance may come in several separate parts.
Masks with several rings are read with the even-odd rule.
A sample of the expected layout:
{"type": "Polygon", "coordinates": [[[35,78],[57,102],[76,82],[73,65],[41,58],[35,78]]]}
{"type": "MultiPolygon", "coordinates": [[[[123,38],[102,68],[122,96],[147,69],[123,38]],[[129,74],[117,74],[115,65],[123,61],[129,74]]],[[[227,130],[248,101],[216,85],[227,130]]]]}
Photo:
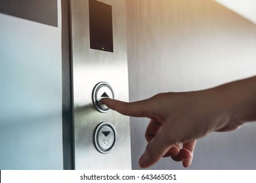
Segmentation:
{"type": "Polygon", "coordinates": [[[0,169],[63,169],[60,0],[58,27],[0,24],[0,169]]]}

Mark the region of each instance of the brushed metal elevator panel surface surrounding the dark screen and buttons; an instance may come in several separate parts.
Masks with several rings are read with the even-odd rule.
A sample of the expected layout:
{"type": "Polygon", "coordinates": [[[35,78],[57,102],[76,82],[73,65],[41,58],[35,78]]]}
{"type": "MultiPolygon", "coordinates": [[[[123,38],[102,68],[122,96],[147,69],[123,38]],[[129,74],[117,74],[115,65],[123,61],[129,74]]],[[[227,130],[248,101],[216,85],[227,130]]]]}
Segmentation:
{"type": "Polygon", "coordinates": [[[101,1],[112,5],[113,53],[90,49],[88,2],[71,1],[75,169],[131,169],[129,118],[112,110],[98,112],[91,97],[95,85],[104,81],[112,86],[116,99],[129,100],[125,1],[101,1]],[[110,122],[118,134],[116,145],[108,154],[98,152],[93,143],[93,133],[100,122],[110,122]]]}

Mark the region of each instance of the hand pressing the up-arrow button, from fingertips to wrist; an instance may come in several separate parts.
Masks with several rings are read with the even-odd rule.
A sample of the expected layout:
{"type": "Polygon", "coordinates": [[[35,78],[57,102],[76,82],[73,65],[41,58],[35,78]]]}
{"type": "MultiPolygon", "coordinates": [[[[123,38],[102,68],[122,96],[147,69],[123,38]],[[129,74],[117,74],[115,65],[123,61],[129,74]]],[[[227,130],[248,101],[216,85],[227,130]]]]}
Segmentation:
{"type": "Polygon", "coordinates": [[[212,90],[160,93],[133,103],[103,99],[103,103],[121,114],[151,119],[145,133],[148,145],[139,159],[143,168],[167,156],[189,167],[196,144],[194,139],[211,131],[236,128],[228,121],[222,99],[212,90]]]}

